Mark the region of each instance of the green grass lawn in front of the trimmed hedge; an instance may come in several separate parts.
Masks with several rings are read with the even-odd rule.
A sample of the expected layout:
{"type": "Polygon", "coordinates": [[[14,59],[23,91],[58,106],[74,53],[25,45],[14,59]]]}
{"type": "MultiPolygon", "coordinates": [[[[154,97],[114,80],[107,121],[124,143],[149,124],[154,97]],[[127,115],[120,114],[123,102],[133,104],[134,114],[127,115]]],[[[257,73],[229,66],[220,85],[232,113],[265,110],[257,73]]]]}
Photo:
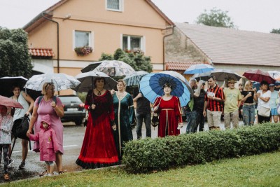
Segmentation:
{"type": "Polygon", "coordinates": [[[90,169],[7,186],[280,186],[280,151],[218,160],[150,174],[127,174],[121,167],[90,169]]]}

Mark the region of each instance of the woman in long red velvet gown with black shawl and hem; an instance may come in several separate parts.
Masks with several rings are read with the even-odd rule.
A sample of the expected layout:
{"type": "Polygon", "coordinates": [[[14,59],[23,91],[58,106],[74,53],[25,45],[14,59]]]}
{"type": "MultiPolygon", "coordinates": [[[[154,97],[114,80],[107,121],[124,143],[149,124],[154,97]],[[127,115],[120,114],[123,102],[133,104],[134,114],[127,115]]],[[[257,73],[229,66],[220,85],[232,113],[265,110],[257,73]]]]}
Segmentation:
{"type": "Polygon", "coordinates": [[[83,146],[76,160],[76,164],[85,169],[120,164],[113,139],[113,130],[116,129],[113,123],[113,98],[111,93],[104,89],[104,78],[95,78],[94,85],[94,90],[87,93],[85,101],[89,116],[83,146]]]}

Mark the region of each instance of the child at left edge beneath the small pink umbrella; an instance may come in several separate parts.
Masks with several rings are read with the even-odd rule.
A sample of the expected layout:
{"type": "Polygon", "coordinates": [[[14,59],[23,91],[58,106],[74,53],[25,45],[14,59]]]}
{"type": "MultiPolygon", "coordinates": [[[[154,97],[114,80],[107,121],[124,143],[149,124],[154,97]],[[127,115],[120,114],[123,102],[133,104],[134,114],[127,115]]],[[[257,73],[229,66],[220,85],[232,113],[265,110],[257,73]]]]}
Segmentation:
{"type": "Polygon", "coordinates": [[[0,162],[3,151],[5,181],[10,180],[8,176],[8,149],[11,144],[11,130],[13,127],[13,117],[7,113],[7,107],[0,104],[0,162]]]}

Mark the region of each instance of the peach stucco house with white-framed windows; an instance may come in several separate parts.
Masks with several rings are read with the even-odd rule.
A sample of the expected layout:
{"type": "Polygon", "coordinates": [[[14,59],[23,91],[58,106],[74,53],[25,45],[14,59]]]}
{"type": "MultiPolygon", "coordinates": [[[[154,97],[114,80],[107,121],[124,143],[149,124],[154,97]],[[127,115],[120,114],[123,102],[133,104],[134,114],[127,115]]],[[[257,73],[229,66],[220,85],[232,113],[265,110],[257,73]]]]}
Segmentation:
{"type": "Polygon", "coordinates": [[[174,23],[151,0],[62,0],[23,29],[34,71],[76,76],[102,53],[113,54],[117,48],[140,48],[151,56],[153,70],[162,71],[164,39],[172,27],[174,23]],[[93,51],[78,56],[74,48],[79,46],[91,46],[93,51]]]}

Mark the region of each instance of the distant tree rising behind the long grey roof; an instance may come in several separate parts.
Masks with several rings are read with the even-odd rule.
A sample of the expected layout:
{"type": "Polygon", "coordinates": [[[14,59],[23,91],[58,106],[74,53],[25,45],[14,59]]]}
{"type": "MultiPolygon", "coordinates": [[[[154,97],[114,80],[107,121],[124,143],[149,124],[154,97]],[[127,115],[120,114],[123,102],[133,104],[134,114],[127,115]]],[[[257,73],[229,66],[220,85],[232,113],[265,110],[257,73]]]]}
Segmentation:
{"type": "Polygon", "coordinates": [[[208,13],[204,10],[204,13],[197,17],[197,24],[214,26],[214,27],[229,27],[234,28],[235,25],[231,18],[228,16],[228,11],[221,11],[221,9],[212,8],[208,13]]]}

